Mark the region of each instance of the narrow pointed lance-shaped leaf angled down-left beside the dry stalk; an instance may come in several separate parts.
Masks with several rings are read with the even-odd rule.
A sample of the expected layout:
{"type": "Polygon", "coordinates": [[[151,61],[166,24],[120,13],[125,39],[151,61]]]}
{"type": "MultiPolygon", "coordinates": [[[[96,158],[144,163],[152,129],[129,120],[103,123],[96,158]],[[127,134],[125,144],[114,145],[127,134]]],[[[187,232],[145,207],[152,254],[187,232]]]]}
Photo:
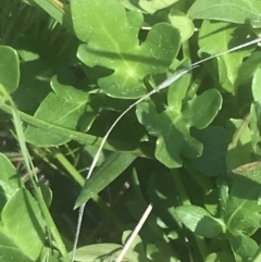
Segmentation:
{"type": "Polygon", "coordinates": [[[121,175],[135,159],[136,155],[128,153],[111,153],[90,178],[86,180],[76,200],[75,209],[97,196],[98,192],[121,175]]]}

